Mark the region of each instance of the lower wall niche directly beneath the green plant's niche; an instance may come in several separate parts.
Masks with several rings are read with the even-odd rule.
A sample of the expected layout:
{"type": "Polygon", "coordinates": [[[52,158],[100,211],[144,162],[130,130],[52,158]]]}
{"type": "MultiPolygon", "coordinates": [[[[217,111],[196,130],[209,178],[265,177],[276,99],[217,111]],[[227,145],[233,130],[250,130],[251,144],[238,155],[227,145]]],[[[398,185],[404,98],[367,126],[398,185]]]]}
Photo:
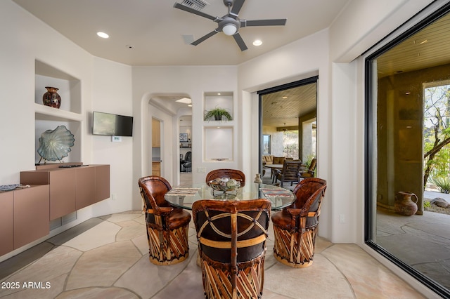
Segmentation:
{"type": "Polygon", "coordinates": [[[233,127],[205,127],[205,161],[233,161],[233,127]]]}

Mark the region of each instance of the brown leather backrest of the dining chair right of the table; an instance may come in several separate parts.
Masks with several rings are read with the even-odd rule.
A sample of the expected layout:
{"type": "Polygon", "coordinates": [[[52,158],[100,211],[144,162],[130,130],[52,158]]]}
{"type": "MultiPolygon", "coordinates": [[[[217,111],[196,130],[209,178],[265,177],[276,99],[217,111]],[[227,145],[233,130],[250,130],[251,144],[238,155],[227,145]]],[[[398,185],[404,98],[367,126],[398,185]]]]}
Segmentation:
{"type": "Polygon", "coordinates": [[[297,198],[288,208],[299,208],[307,215],[306,227],[319,223],[321,204],[326,190],[326,180],[305,178],[295,186],[293,193],[297,198]]]}

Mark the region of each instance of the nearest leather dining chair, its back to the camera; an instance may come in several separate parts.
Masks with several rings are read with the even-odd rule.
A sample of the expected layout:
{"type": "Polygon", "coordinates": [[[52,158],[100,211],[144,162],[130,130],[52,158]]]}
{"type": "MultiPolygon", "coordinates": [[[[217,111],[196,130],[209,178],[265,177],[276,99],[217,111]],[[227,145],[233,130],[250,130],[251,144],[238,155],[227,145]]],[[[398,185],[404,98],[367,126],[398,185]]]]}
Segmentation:
{"type": "Polygon", "coordinates": [[[260,298],[270,201],[195,201],[200,267],[206,298],[260,298]]]}

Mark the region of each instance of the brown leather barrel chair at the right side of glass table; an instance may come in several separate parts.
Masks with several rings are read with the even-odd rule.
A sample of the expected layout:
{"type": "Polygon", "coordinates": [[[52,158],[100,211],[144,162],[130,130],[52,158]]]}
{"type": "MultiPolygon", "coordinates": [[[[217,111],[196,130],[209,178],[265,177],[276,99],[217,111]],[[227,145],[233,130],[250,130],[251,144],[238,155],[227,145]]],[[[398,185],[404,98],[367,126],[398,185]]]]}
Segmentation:
{"type": "Polygon", "coordinates": [[[325,190],[326,180],[305,178],[295,186],[293,204],[272,215],[276,260],[296,268],[312,264],[325,190]]]}

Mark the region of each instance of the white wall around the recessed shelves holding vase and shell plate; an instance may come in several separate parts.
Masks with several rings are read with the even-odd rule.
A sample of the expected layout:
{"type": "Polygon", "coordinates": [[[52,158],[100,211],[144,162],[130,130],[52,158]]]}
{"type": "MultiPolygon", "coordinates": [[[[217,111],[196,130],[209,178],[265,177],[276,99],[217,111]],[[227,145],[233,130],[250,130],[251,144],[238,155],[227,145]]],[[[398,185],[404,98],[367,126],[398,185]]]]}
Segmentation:
{"type": "MultiPolygon", "coordinates": [[[[90,102],[93,58],[11,1],[0,1],[0,39],[0,184],[6,185],[34,169],[34,60],[85,79],[82,97],[90,102]]],[[[90,159],[90,149],[82,156],[90,159]]]]}

